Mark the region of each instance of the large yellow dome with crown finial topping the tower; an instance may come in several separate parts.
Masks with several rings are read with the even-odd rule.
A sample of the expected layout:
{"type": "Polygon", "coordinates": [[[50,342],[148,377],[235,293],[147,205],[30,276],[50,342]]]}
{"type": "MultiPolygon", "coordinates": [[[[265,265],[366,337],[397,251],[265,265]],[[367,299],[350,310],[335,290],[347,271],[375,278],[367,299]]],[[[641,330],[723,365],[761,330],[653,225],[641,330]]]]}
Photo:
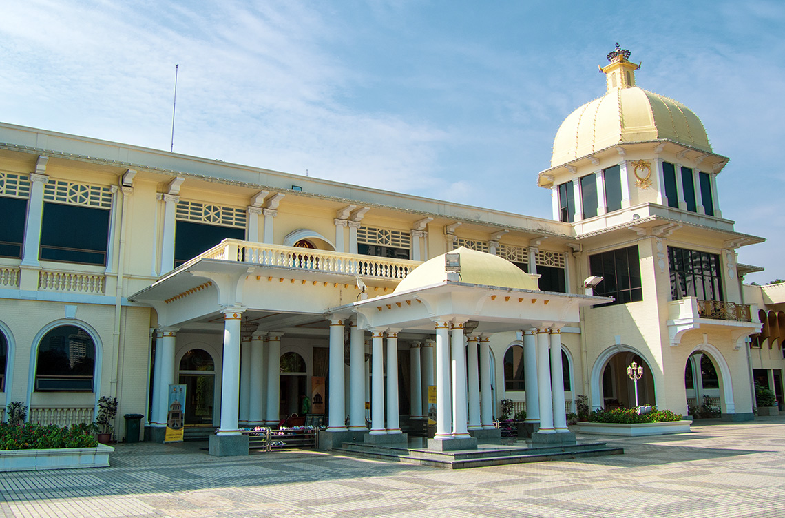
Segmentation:
{"type": "Polygon", "coordinates": [[[573,111],[553,139],[551,166],[560,166],[595,151],[627,142],[672,140],[711,152],[703,123],[684,104],[635,86],[635,71],[627,50],[608,54],[608,93],[573,111]]]}

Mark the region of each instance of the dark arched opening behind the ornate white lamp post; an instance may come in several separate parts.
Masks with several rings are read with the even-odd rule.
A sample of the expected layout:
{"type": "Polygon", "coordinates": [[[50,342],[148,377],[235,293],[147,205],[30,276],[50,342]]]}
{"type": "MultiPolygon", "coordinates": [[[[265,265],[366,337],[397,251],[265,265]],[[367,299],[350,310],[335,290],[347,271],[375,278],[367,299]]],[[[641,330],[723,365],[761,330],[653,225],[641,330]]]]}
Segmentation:
{"type": "Polygon", "coordinates": [[[601,406],[604,408],[634,408],[635,384],[627,376],[633,362],[643,367],[643,378],[637,382],[637,399],[641,405],[656,404],[652,367],[635,352],[617,352],[604,364],[600,378],[601,406]]]}

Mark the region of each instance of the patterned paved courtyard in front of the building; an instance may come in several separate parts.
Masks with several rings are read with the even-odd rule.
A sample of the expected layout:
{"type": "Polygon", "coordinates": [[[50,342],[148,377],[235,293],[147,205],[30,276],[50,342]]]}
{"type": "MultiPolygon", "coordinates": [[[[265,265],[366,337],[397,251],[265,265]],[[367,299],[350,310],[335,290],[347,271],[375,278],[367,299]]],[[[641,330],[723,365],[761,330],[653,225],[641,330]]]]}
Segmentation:
{"type": "MultiPolygon", "coordinates": [[[[119,444],[111,467],[0,473],[2,516],[785,516],[785,418],[610,438],[626,454],[451,471],[311,451],[119,444]]],[[[593,436],[594,439],[597,436],[593,436]]]]}

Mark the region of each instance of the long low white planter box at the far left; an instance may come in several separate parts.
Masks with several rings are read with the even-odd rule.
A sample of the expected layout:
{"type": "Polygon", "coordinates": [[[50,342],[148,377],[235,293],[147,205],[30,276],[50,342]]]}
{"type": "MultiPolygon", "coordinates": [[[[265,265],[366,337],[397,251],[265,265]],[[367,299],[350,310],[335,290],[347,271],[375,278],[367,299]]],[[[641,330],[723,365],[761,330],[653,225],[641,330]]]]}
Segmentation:
{"type": "Polygon", "coordinates": [[[100,468],[109,465],[111,446],[0,451],[0,472],[40,469],[100,468]]]}

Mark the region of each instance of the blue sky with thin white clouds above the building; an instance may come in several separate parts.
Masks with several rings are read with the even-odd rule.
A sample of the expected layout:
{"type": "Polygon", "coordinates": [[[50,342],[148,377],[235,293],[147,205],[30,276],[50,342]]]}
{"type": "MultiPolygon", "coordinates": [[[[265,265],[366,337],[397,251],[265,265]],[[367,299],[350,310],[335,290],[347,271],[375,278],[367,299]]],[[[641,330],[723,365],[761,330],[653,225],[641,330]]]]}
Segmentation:
{"type": "Polygon", "coordinates": [[[604,93],[615,42],[638,86],[703,120],[723,216],[785,278],[785,4],[5,2],[0,120],[550,217],[536,175],[604,93]]]}

